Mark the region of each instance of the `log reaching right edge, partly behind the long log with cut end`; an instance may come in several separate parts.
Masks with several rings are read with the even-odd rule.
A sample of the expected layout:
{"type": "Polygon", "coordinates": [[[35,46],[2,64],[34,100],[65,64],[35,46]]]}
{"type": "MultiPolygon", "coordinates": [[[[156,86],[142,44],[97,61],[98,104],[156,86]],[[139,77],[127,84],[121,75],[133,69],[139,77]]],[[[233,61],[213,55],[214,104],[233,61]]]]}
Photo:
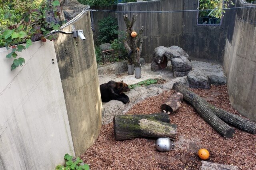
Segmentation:
{"type": "MultiPolygon", "coordinates": [[[[193,92],[189,91],[189,93],[186,93],[186,98],[191,97],[192,94],[195,95],[193,92]]],[[[183,93],[183,95],[184,95],[184,93],[183,93]]],[[[214,105],[211,105],[210,103],[208,103],[201,97],[199,97],[199,98],[200,98],[200,103],[202,103],[202,105],[204,105],[204,107],[209,108],[222,121],[224,121],[236,128],[239,128],[242,131],[245,131],[245,132],[248,132],[251,134],[256,134],[256,123],[254,123],[252,121],[248,121],[242,117],[239,117],[238,115],[234,115],[232,113],[224,111],[223,109],[220,109],[218,107],[215,107],[214,105]]],[[[185,96],[184,96],[184,99],[185,99],[185,96]]],[[[190,104],[192,105],[192,103],[190,103],[190,104]]]]}

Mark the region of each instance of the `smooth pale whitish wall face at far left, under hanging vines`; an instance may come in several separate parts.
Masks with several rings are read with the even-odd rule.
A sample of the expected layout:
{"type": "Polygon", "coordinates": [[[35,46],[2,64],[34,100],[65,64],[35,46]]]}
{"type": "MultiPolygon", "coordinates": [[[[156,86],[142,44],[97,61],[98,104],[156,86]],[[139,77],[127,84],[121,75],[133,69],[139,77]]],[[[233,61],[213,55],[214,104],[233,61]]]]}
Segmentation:
{"type": "Polygon", "coordinates": [[[0,169],[54,169],[74,148],[53,42],[19,53],[13,71],[9,52],[0,48],[0,169]]]}

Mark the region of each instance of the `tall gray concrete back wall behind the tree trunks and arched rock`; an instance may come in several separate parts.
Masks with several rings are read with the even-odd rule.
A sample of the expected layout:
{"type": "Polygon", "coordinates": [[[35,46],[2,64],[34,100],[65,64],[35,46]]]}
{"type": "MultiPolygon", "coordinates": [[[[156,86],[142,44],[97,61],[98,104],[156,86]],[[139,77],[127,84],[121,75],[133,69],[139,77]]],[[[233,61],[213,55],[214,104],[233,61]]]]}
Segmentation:
{"type": "MultiPolygon", "coordinates": [[[[196,10],[198,0],[153,0],[117,4],[117,11],[174,11],[196,10]]],[[[97,9],[97,8],[91,8],[97,9]]],[[[105,9],[108,10],[108,9],[105,9]]],[[[115,8],[113,7],[113,9],[115,8]]],[[[145,27],[142,34],[142,57],[147,63],[152,61],[152,52],[160,45],[182,47],[192,58],[206,61],[223,62],[225,40],[229,26],[230,11],[225,13],[222,26],[197,26],[198,12],[150,12],[140,13],[134,24],[134,30],[145,27]]],[[[93,12],[95,34],[98,34],[96,20],[116,16],[119,31],[126,31],[123,16],[131,19],[133,12],[93,12]]]]}

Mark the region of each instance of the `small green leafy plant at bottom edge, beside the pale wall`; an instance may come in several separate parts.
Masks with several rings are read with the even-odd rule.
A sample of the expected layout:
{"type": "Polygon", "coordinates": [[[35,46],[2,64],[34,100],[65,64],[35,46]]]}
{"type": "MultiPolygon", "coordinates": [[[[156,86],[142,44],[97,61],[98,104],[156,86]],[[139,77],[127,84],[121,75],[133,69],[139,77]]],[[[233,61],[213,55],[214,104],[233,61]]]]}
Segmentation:
{"type": "Polygon", "coordinates": [[[64,159],[66,164],[56,166],[55,170],[89,170],[90,168],[88,164],[83,164],[83,160],[79,157],[74,160],[73,156],[65,154],[64,159]]]}

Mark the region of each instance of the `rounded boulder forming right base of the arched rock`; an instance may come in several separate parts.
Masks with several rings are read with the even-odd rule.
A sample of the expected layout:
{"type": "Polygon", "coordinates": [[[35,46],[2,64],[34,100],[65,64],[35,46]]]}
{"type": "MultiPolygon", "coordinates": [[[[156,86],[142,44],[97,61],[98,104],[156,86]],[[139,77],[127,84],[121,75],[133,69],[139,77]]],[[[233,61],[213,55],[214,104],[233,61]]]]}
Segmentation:
{"type": "Polygon", "coordinates": [[[172,58],[172,72],[174,77],[183,77],[192,70],[192,63],[185,56],[179,58],[172,58]]]}

